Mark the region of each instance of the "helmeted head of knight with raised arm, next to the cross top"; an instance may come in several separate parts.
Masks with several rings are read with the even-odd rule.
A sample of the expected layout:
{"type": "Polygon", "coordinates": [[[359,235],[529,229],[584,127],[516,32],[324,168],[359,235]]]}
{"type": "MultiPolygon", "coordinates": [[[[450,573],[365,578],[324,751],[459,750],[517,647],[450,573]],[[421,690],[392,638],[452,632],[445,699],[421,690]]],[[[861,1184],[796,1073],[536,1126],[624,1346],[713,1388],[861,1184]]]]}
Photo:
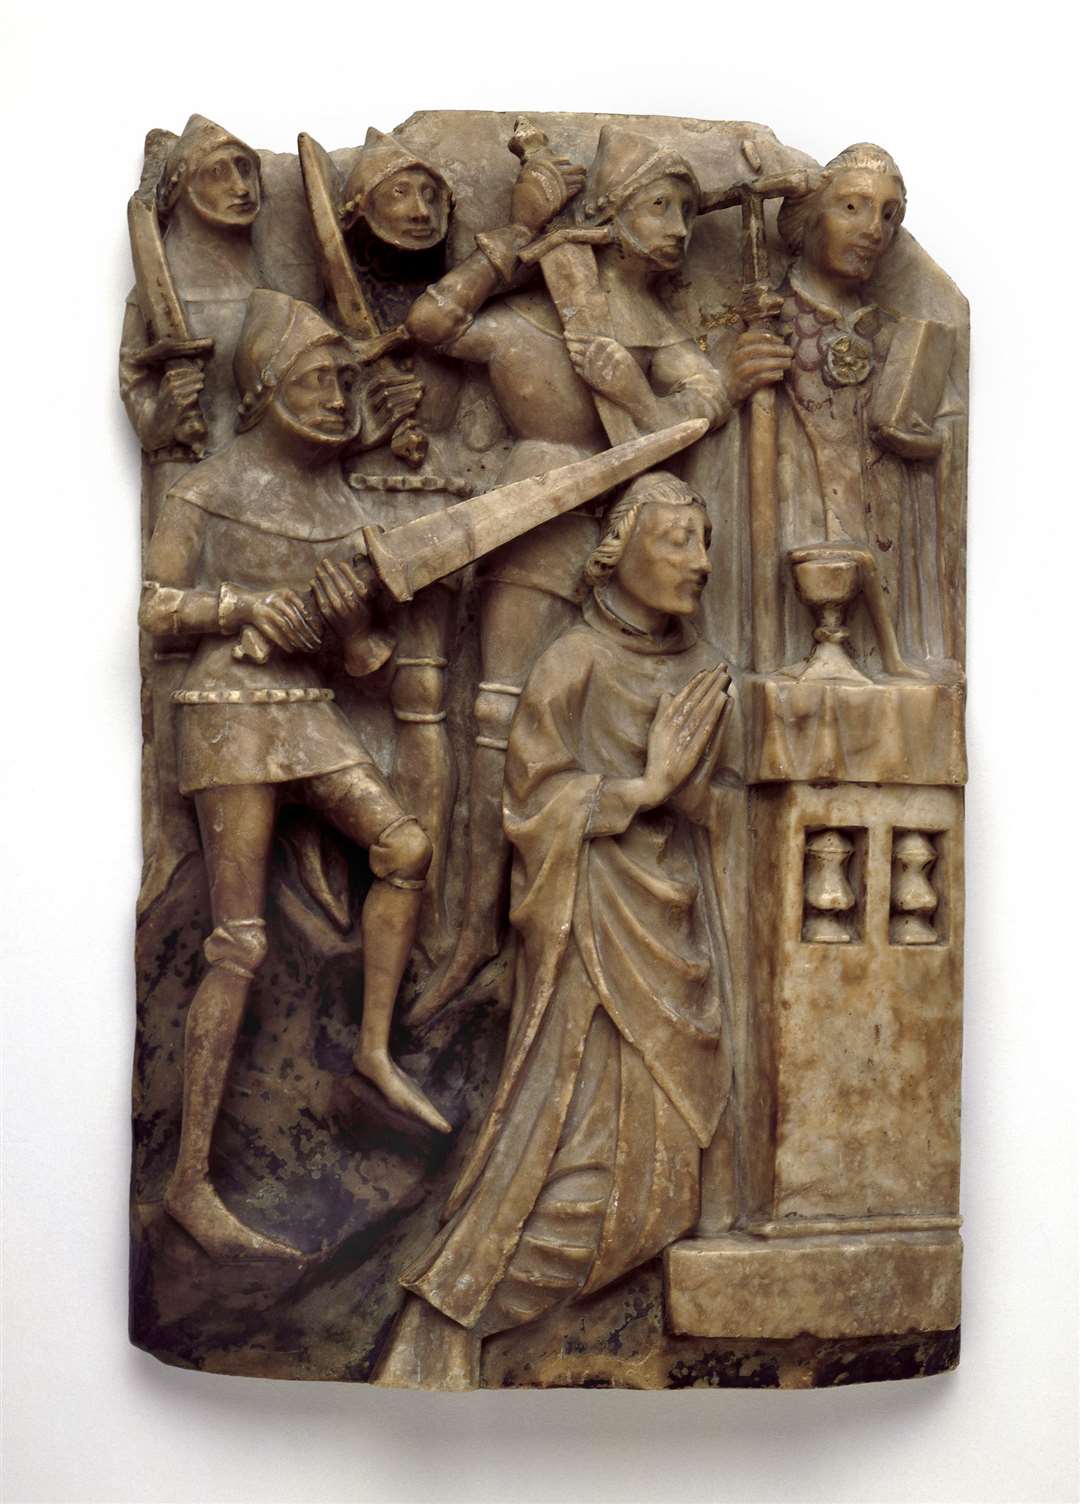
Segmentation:
{"type": "Polygon", "coordinates": [[[578,218],[614,224],[624,251],[674,271],[686,256],[699,202],[696,174],[674,147],[605,125],[578,218]]]}

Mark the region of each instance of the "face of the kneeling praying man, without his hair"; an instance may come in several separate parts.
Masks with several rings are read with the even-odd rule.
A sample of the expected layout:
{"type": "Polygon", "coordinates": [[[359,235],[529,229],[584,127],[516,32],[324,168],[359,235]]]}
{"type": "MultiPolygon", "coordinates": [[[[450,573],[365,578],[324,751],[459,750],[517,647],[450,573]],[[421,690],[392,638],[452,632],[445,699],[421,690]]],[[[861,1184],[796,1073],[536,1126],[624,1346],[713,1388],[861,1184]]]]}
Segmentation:
{"type": "Polygon", "coordinates": [[[648,501],[615,566],[621,590],[651,611],[692,617],[708,581],[711,528],[698,505],[648,501]]]}

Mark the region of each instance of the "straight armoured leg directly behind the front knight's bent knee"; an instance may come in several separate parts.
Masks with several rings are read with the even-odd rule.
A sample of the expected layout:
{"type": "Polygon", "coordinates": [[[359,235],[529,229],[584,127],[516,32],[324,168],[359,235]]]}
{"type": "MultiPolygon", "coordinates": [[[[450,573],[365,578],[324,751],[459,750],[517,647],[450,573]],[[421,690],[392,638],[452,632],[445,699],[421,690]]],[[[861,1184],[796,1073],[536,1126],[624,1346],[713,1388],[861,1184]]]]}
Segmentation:
{"type": "Polygon", "coordinates": [[[417,817],[432,842],[421,945],[447,945],[445,869],[450,815],[457,791],[447,735],[447,654],[454,621],[454,596],[438,585],[408,608],[399,644],[391,704],[397,719],[397,746],[391,784],[402,808],[417,817]]]}

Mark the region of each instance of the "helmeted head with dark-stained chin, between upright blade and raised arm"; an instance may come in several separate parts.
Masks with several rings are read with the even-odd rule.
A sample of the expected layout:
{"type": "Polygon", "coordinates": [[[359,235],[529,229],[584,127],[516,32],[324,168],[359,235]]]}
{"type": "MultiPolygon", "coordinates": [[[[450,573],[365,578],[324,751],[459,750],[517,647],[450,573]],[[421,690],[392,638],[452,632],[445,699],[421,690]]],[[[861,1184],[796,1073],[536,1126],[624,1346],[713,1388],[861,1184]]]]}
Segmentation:
{"type": "Polygon", "coordinates": [[[430,251],[447,238],[453,202],[438,167],[372,126],[344,185],[341,229],[364,220],[399,250],[430,251]]]}

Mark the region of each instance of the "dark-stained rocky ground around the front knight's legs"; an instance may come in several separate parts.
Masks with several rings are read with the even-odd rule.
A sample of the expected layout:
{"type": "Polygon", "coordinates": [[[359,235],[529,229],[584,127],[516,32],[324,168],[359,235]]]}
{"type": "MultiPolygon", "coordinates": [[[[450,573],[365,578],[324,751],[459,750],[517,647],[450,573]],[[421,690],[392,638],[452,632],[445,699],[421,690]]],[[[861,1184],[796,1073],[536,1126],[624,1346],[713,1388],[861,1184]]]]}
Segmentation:
{"type": "MultiPolygon", "coordinates": [[[[356,907],[366,878],[355,874],[356,907]]],[[[429,1133],[353,1072],[359,942],[299,896],[284,850],[269,920],[272,951],[238,1041],[212,1173],[248,1226],[308,1259],[215,1263],[161,1208],[187,1006],[212,928],[202,863],[188,862],[137,938],[131,1339],[181,1367],[359,1382],[397,1311],[397,1271],[438,1226],[460,1134],[429,1133]]],[[[423,1033],[399,1027],[393,1048],[468,1134],[493,1089],[504,1027],[490,1008],[463,1003],[423,1033]]]]}

